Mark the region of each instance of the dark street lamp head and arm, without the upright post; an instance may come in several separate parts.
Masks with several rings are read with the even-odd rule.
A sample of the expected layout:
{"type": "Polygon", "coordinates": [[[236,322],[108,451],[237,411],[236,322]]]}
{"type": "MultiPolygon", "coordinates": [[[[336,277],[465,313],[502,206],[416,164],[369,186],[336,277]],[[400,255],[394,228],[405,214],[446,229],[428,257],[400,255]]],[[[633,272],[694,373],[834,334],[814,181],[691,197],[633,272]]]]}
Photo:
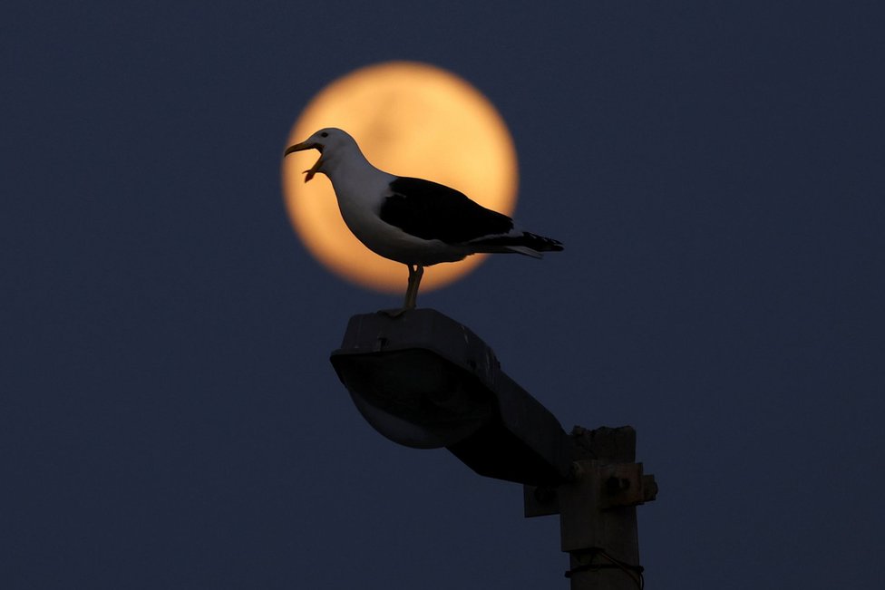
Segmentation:
{"type": "Polygon", "coordinates": [[[491,478],[556,486],[571,477],[559,421],[476,334],[433,309],[355,315],[331,361],[365,420],[394,442],[445,447],[491,478]]]}

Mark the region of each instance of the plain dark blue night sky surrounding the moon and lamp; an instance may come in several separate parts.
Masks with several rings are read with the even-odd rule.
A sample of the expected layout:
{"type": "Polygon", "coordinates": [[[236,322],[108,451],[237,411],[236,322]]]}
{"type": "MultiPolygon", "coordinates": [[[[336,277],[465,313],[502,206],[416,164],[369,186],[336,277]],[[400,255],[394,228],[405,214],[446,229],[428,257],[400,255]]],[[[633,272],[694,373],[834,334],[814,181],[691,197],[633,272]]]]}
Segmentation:
{"type": "Polygon", "coordinates": [[[310,258],[280,157],[315,92],[389,59],[498,106],[517,217],[567,247],[420,303],[567,429],[637,428],[649,587],[880,587],[874,3],[16,4],[5,588],[567,587],[555,518],[384,440],[328,363],[400,299],[310,258]]]}

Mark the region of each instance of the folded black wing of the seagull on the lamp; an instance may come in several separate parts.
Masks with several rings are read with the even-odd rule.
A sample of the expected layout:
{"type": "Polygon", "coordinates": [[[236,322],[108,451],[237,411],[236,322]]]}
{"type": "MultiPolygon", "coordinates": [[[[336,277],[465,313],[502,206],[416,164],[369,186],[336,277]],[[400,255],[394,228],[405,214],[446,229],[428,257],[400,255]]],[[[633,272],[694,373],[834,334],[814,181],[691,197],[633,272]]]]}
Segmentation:
{"type": "Polygon", "coordinates": [[[384,222],[413,236],[462,244],[513,228],[513,220],[506,215],[430,180],[400,177],[390,183],[390,190],[379,214],[384,222]]]}

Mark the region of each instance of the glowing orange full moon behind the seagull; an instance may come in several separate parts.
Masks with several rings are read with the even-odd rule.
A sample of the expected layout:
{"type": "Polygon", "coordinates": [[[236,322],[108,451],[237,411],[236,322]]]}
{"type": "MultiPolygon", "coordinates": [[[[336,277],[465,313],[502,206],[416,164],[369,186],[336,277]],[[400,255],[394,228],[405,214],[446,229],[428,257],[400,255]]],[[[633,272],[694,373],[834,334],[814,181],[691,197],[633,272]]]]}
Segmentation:
{"type": "MultiPolygon", "coordinates": [[[[440,182],[506,215],[516,205],[516,150],[510,132],[491,102],[452,73],[411,62],[380,63],[349,73],[307,105],[287,146],[324,127],[350,133],[377,168],[440,182]]],[[[318,158],[319,152],[306,150],[283,160],[283,190],[298,236],[337,275],[379,291],[404,293],[406,266],[377,256],[350,233],[329,179],[317,174],[304,182],[302,171],[318,158]]],[[[421,292],[465,275],[483,257],[429,266],[421,292]]]]}

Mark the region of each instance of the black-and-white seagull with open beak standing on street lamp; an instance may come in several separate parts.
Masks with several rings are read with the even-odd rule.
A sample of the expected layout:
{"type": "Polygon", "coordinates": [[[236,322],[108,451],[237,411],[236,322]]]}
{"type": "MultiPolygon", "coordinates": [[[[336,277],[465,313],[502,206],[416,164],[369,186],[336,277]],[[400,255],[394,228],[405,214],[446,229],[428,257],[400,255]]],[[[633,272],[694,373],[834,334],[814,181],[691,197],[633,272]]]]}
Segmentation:
{"type": "Polygon", "coordinates": [[[283,157],[318,150],[305,182],[323,173],[332,182],[345,224],[365,247],[409,267],[403,311],[414,309],[424,266],[480,253],[515,252],[535,258],[562,244],[522,230],[513,220],[431,180],[394,176],[365,159],[354,138],[336,128],[316,131],[283,157]]]}

